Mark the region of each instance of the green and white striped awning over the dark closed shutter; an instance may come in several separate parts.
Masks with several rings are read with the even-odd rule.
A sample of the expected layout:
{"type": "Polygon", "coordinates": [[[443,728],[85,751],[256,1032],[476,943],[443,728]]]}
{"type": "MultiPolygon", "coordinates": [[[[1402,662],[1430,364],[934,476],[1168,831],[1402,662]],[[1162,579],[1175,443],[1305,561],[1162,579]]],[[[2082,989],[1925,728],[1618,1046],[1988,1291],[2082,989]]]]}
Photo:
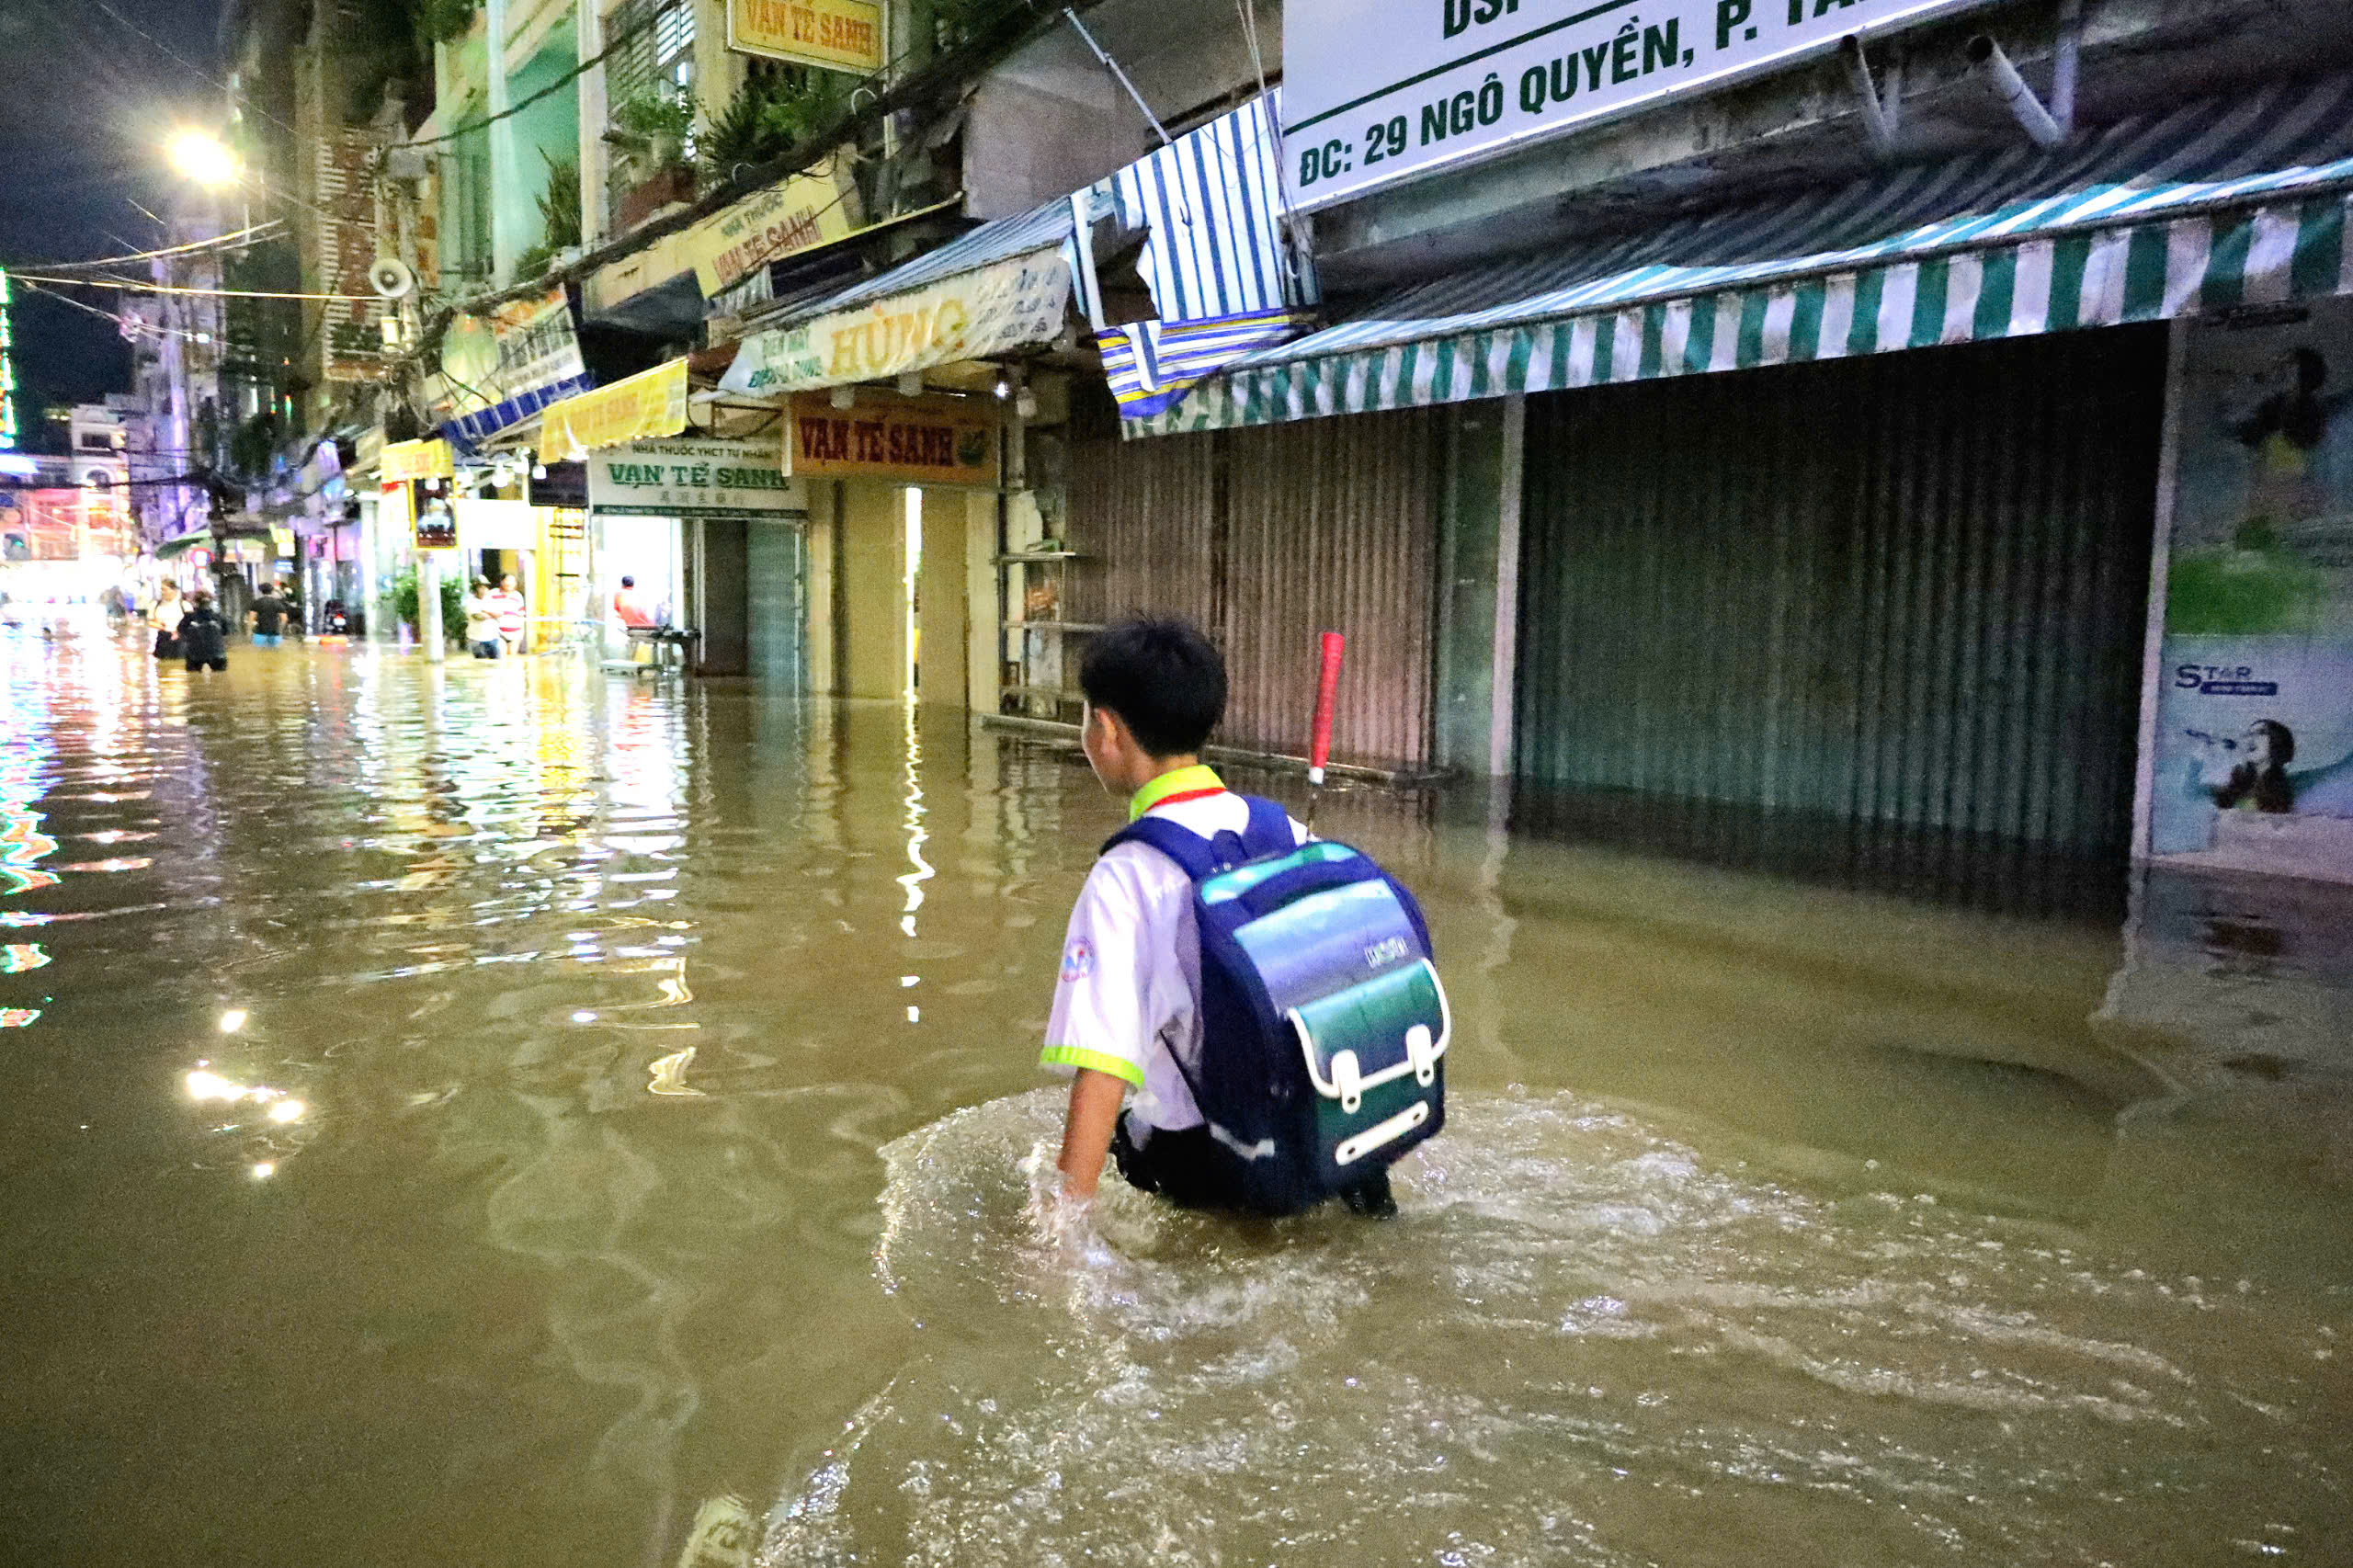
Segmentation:
{"type": "Polygon", "coordinates": [[[2266,87],[1414,285],[1134,436],[2353,294],[2353,78],[2266,87]]]}

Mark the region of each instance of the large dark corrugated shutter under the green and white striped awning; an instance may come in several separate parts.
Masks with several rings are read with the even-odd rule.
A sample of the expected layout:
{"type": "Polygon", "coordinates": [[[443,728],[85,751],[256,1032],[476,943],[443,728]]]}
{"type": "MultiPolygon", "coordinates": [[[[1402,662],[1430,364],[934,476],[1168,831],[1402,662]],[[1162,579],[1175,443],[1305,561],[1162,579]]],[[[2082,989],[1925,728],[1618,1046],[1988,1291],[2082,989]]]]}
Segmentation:
{"type": "Polygon", "coordinates": [[[2162,388],[2148,327],[1529,398],[1522,822],[2113,881],[2162,388]]]}

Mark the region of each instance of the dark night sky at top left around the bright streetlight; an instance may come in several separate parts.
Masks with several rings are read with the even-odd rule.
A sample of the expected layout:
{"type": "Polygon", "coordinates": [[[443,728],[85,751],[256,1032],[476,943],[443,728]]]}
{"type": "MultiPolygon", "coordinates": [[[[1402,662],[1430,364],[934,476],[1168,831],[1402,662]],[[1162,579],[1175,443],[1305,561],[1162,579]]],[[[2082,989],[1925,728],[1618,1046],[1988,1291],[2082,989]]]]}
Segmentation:
{"type": "MultiPolygon", "coordinates": [[[[184,122],[219,129],[226,113],[216,38],[224,2],[0,0],[0,61],[9,66],[0,264],[38,271],[40,261],[158,242],[160,228],[139,207],[165,212],[169,200],[162,137],[184,122]]],[[[113,304],[113,294],[78,297],[113,304]]],[[[129,353],[113,323],[24,285],[14,320],[26,445],[40,440],[35,405],[129,388],[129,353]]]]}

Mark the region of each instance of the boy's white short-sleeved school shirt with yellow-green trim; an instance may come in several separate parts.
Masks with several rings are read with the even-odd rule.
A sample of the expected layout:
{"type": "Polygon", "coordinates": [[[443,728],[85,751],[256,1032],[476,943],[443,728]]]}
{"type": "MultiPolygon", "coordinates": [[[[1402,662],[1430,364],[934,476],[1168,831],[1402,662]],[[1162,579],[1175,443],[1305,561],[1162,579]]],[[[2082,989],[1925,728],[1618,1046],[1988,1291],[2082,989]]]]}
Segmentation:
{"type": "MultiPolygon", "coordinates": [[[[1165,800],[1148,815],[1202,838],[1240,833],[1249,822],[1242,796],[1226,793],[1202,768],[1169,775],[1176,789],[1219,793],[1165,800]]],[[[1167,782],[1155,779],[1160,793],[1167,782]]],[[[1151,793],[1153,786],[1146,786],[1151,793]]],[[[1292,822],[1292,841],[1308,831],[1292,822]]],[[[1202,1123],[1193,1090],[1176,1067],[1200,1062],[1200,937],[1193,928],[1193,883],[1184,869],[1144,843],[1122,843],[1094,862],[1071,930],[1061,942],[1054,1015],[1038,1064],[1073,1074],[1080,1067],[1132,1085],[1127,1111],[1146,1128],[1179,1132],[1202,1123]]]]}

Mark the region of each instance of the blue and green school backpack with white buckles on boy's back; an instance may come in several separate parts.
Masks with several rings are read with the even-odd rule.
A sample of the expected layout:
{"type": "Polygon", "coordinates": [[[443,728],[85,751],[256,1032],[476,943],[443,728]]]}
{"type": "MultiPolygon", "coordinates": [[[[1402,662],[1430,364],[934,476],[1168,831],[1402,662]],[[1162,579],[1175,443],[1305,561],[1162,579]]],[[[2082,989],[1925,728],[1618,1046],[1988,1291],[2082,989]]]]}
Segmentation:
{"type": "Polygon", "coordinates": [[[1292,1215],[1445,1125],[1452,1019],[1414,895],[1344,843],[1294,843],[1275,800],[1245,803],[1240,833],[1141,817],[1104,852],[1151,845],[1191,878],[1202,1045],[1176,1067],[1217,1189],[1292,1215]]]}

